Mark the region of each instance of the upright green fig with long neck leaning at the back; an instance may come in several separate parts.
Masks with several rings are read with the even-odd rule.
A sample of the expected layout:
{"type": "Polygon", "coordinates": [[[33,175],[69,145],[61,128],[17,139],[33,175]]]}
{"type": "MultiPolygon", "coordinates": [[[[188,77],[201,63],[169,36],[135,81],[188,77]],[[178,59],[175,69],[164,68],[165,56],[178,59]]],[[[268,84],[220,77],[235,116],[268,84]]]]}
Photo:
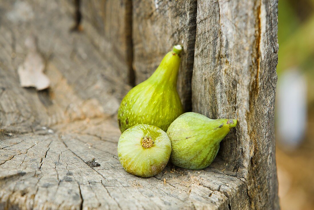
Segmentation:
{"type": "Polygon", "coordinates": [[[170,123],[183,113],[176,90],[181,50],[181,45],[174,46],[156,71],[122,99],[118,110],[121,132],[136,124],[154,125],[167,131],[170,123]]]}

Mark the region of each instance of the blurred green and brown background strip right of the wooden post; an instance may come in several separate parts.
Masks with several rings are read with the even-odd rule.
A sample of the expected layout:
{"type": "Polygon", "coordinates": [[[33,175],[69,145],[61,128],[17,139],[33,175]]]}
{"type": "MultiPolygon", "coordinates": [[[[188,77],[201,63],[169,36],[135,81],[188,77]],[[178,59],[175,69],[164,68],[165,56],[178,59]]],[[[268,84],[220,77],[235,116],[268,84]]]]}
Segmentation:
{"type": "Polygon", "coordinates": [[[314,0],[279,0],[276,156],[283,210],[314,209],[314,0]]]}

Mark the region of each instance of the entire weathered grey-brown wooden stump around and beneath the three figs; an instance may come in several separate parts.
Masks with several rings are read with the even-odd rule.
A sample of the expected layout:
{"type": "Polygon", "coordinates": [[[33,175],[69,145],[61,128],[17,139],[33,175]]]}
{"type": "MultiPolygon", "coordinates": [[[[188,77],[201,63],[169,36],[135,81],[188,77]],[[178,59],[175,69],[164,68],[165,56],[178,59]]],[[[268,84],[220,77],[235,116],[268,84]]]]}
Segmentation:
{"type": "MultiPolygon", "coordinates": [[[[101,3],[82,2],[82,5],[101,3]]],[[[107,3],[131,10],[126,2],[107,3]]],[[[183,45],[190,44],[184,46],[180,71],[191,80],[188,75],[192,70],[184,67],[191,68],[194,55],[192,20],[196,2],[181,1],[180,6],[175,2],[157,2],[155,9],[154,2],[133,2],[136,73],[144,72],[150,62],[151,66],[158,65],[170,50],[169,44],[184,39],[183,45]],[[148,15],[144,15],[146,21],[140,20],[137,13],[148,15]],[[161,27],[158,21],[165,23],[169,31],[156,35],[155,41],[161,44],[156,45],[155,56],[145,54],[147,57],[142,58],[143,46],[154,49],[154,39],[141,35],[140,27],[152,24],[150,29],[156,30],[161,27]],[[179,26],[181,31],[170,30],[179,26]],[[175,32],[173,37],[161,38],[161,34],[169,37],[170,32],[175,32]]],[[[277,209],[273,87],[278,46],[277,5],[272,3],[273,7],[266,2],[260,7],[252,2],[236,7],[232,2],[198,1],[193,110],[211,117],[237,117],[239,126],[223,141],[219,156],[210,167],[190,171],[169,163],[155,177],[138,178],[125,172],[117,160],[116,146],[121,133],[116,111],[130,86],[121,69],[112,65],[112,57],[106,56],[106,48],[101,49],[95,41],[97,37],[106,37],[102,24],[106,25],[108,20],[103,23],[99,20],[97,28],[97,24],[87,23],[88,17],[84,24],[83,17],[85,30],[71,32],[75,8],[68,1],[1,1],[0,209],[277,209]],[[243,14],[251,11],[241,16],[248,21],[246,24],[240,24],[243,20],[237,19],[240,16],[235,8],[243,14]],[[258,8],[264,8],[266,14],[258,13],[263,11],[258,8]],[[229,22],[232,24],[228,25],[229,22]],[[257,27],[265,24],[266,29],[257,27]],[[90,32],[88,27],[95,27],[95,31],[90,32]],[[38,51],[46,62],[45,73],[51,80],[49,90],[37,92],[19,87],[17,69],[27,55],[24,41],[29,36],[38,40],[38,51]],[[258,45],[258,40],[262,44],[258,45]],[[97,167],[90,164],[93,159],[97,167]]],[[[87,11],[82,10],[83,16],[87,11]]],[[[121,15],[126,18],[132,11],[121,15]]],[[[97,19],[98,14],[93,15],[90,20],[97,19]]],[[[122,48],[129,46],[126,43],[121,43],[122,48]]],[[[123,56],[119,59],[128,55],[123,56]]],[[[123,65],[128,66],[126,63],[123,65]]],[[[138,76],[138,80],[146,76],[138,76]]],[[[179,83],[188,84],[182,78],[181,75],[179,83]]],[[[189,85],[186,88],[189,91],[189,85]]],[[[188,108],[188,102],[185,104],[188,108]]]]}

